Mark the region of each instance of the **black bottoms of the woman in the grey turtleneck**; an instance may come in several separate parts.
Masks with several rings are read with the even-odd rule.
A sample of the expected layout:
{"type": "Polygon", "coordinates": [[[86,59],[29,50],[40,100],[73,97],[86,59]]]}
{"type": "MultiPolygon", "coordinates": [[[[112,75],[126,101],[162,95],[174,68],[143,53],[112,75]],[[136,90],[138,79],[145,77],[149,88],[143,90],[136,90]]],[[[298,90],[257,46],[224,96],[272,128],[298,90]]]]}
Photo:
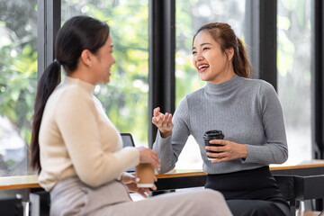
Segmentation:
{"type": "Polygon", "coordinates": [[[234,216],[286,216],[289,205],[269,166],[229,174],[208,175],[205,188],[223,193],[234,216]]]}

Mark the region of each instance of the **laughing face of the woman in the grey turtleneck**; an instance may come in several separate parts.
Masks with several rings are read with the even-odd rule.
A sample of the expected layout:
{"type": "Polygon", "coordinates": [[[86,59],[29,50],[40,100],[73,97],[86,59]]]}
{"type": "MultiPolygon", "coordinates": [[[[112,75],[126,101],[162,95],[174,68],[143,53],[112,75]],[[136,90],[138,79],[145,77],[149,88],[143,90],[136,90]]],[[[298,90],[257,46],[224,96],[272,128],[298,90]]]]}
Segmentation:
{"type": "Polygon", "coordinates": [[[193,66],[202,81],[220,84],[233,73],[230,53],[227,57],[220,49],[220,44],[213,40],[208,31],[201,31],[193,40],[193,66]]]}

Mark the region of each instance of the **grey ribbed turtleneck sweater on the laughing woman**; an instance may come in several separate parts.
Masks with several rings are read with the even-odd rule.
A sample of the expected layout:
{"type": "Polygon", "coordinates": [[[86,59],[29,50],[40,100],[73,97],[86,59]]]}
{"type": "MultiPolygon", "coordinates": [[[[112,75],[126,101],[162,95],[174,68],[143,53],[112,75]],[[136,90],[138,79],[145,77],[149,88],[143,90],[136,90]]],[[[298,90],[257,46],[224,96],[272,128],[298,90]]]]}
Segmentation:
{"type": "Polygon", "coordinates": [[[263,80],[234,76],[220,85],[207,83],[182,99],[172,121],[172,135],[163,139],[157,132],[153,145],[160,173],[175,167],[189,135],[199,145],[208,174],[281,164],[288,157],[282,107],[274,87],[263,80]],[[202,139],[207,130],[222,130],[224,139],[247,145],[247,158],[212,164],[202,139]]]}

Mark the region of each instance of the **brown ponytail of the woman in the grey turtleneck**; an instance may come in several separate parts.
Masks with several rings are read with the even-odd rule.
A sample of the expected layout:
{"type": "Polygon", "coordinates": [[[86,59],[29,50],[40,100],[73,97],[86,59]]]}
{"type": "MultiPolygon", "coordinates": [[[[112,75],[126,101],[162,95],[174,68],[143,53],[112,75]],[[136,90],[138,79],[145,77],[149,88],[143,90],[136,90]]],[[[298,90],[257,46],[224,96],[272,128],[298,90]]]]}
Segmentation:
{"type": "Polygon", "coordinates": [[[245,49],[245,43],[239,38],[237,39],[238,39],[238,46],[237,46],[238,49],[234,49],[237,51],[234,52],[234,58],[233,58],[234,71],[238,76],[251,78],[253,69],[251,64],[248,61],[247,50],[245,49]]]}

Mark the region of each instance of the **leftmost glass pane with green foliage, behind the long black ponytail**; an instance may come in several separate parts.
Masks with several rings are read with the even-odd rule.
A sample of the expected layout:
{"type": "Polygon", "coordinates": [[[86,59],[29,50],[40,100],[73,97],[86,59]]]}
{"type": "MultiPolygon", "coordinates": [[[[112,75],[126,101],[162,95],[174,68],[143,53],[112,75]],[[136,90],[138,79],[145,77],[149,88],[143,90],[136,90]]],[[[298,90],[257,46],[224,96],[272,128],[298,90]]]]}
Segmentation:
{"type": "Polygon", "coordinates": [[[0,176],[27,175],[37,87],[37,0],[0,4],[0,176]]]}

